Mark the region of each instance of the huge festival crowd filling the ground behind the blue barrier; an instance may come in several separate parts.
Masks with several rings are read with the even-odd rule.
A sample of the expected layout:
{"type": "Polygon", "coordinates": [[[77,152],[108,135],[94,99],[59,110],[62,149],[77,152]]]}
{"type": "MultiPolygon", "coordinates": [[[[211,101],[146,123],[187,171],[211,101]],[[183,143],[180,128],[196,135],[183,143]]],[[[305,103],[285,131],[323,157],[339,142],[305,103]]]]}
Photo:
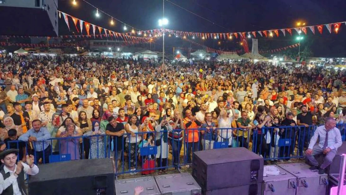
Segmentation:
{"type": "Polygon", "coordinates": [[[110,155],[116,171],[125,161],[130,174],[138,171],[137,150],[153,146],[157,153],[141,156],[142,167],[160,167],[160,174],[170,152],[179,169],[182,146],[191,163],[192,151],[216,142],[289,160],[295,147],[299,156],[308,148],[312,125],[346,123],[345,80],[342,70],[266,62],[3,56],[0,150],[19,148],[22,160],[34,151],[44,163],[59,153],[71,160],[110,155]],[[296,137],[306,143],[295,145],[296,137]],[[291,145],[280,145],[283,139],[291,145]]]}

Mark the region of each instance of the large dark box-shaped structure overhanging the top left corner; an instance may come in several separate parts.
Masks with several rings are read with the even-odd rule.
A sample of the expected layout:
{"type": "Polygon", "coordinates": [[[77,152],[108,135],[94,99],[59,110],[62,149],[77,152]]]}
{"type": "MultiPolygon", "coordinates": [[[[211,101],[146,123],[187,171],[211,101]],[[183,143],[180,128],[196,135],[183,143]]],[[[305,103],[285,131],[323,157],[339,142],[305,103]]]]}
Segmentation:
{"type": "Polygon", "coordinates": [[[58,0],[0,0],[0,35],[58,36],[58,0]]]}

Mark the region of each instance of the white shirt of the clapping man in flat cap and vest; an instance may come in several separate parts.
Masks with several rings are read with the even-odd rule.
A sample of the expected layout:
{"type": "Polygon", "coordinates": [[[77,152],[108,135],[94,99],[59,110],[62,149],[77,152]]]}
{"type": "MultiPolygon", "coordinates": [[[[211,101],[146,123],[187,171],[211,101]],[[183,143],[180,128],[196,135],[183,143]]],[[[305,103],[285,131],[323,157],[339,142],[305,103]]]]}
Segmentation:
{"type": "MultiPolygon", "coordinates": [[[[22,165],[23,165],[23,170],[24,170],[25,174],[28,174],[28,175],[38,174],[38,167],[36,165],[34,165],[33,168],[30,168],[29,165],[27,165],[24,162],[22,162],[22,165]]],[[[17,165],[15,166],[15,170],[16,170],[16,168],[17,168],[17,165]]],[[[5,171],[5,173],[10,172],[10,177],[3,180],[3,176],[2,176],[2,174],[0,174],[0,181],[3,180],[3,182],[0,183],[2,189],[7,189],[12,184],[13,195],[22,195],[22,193],[19,190],[19,186],[18,186],[18,182],[17,182],[18,176],[13,175],[14,171],[9,170],[6,166],[3,167],[3,170],[5,171]]]]}

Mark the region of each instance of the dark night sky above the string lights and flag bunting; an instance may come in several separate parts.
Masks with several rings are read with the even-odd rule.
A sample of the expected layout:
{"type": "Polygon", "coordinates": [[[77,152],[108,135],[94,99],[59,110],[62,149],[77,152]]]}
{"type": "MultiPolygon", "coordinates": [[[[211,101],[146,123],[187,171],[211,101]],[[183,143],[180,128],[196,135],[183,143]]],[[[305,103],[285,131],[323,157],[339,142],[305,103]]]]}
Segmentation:
{"type": "MultiPolygon", "coordinates": [[[[141,30],[159,28],[158,19],[162,18],[162,0],[88,0],[94,6],[124,21],[126,24],[141,30]]],[[[169,19],[167,28],[188,32],[248,32],[268,29],[281,29],[295,27],[297,21],[304,21],[309,25],[335,23],[346,21],[345,0],[170,0],[177,5],[198,14],[213,23],[189,13],[170,2],[165,1],[165,17],[169,19]]],[[[80,18],[89,23],[113,30],[124,32],[124,25],[115,21],[114,26],[110,25],[110,17],[102,14],[95,17],[95,9],[87,3],[77,0],[78,6],[72,6],[72,0],[59,0],[58,9],[80,18]]],[[[71,30],[75,30],[72,21],[71,30]],[[72,28],[73,27],[73,28],[72,28]]],[[[130,28],[128,27],[128,30],[130,28]]],[[[295,31],[295,30],[294,30],[295,31]]],[[[320,35],[315,29],[315,35],[308,29],[308,34],[304,37],[304,42],[311,43],[313,56],[316,57],[346,57],[346,25],[342,24],[339,33],[329,34],[326,27],[320,35]]],[[[129,32],[129,31],[128,31],[129,32]]],[[[292,30],[293,32],[293,30],[292,30]]],[[[59,20],[59,35],[72,35],[69,32],[63,19],[59,20]]],[[[259,40],[259,50],[261,46],[269,49],[285,47],[297,43],[294,32],[292,37],[286,32],[286,37],[282,34],[277,38],[261,38],[259,40]]],[[[175,37],[167,39],[167,47],[189,46],[175,37]]],[[[222,39],[223,40],[223,39],[222,39]]],[[[200,43],[202,40],[195,39],[200,43]]],[[[239,41],[239,39],[237,40],[239,41]]],[[[222,41],[218,45],[213,40],[204,41],[204,45],[213,48],[228,48],[235,50],[239,44],[234,39],[227,43],[222,41]]],[[[160,44],[160,43],[157,43],[160,44]]],[[[251,44],[251,42],[250,42],[251,44]]],[[[195,46],[193,46],[195,47],[195,46]]],[[[169,50],[169,49],[168,49],[169,50]]]]}

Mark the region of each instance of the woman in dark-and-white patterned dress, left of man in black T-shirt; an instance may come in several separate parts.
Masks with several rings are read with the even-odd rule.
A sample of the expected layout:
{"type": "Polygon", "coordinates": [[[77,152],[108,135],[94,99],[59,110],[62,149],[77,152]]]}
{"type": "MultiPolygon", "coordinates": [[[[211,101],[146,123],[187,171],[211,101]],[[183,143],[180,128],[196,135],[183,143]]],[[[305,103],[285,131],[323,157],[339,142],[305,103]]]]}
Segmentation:
{"type": "Polygon", "coordinates": [[[96,158],[105,158],[104,153],[104,136],[106,131],[104,129],[100,128],[100,122],[93,121],[92,122],[92,129],[91,131],[88,131],[84,133],[84,136],[92,136],[90,138],[90,153],[89,153],[89,159],[96,159],[96,158]]]}

